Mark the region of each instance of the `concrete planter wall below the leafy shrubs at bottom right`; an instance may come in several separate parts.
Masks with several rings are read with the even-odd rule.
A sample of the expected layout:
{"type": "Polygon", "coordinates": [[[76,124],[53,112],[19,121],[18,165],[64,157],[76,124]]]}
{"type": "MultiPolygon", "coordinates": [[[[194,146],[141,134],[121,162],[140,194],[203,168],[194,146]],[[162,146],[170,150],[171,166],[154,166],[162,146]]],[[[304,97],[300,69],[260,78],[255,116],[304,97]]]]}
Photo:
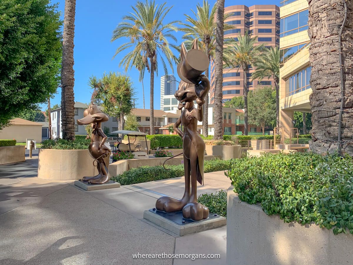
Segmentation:
{"type": "Polygon", "coordinates": [[[284,223],[261,205],[227,200],[227,264],[351,264],[353,236],[318,225],[284,223]]]}

